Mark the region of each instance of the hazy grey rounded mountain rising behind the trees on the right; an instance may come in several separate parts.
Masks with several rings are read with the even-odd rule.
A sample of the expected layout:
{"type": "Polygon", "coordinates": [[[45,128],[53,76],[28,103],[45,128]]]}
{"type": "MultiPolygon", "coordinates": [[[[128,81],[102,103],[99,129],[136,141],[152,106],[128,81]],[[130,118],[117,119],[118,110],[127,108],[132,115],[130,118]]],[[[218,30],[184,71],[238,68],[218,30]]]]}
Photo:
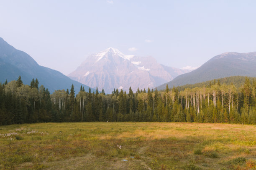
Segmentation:
{"type": "Polygon", "coordinates": [[[213,57],[196,70],[160,85],[157,89],[164,90],[166,84],[169,87],[181,86],[236,75],[256,77],[256,52],[225,52],[213,57]]]}

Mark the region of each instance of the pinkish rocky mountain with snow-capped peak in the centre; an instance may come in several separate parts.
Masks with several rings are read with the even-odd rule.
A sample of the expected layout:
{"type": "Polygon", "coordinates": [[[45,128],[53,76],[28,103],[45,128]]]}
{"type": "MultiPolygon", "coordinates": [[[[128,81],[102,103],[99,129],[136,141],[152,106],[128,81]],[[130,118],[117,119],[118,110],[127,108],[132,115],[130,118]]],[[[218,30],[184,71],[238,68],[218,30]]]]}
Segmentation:
{"type": "Polygon", "coordinates": [[[156,62],[153,57],[124,55],[118,49],[107,48],[90,55],[68,76],[99,90],[111,93],[114,88],[129,87],[134,90],[154,88],[171,81],[180,74],[191,70],[167,67],[156,62]]]}

